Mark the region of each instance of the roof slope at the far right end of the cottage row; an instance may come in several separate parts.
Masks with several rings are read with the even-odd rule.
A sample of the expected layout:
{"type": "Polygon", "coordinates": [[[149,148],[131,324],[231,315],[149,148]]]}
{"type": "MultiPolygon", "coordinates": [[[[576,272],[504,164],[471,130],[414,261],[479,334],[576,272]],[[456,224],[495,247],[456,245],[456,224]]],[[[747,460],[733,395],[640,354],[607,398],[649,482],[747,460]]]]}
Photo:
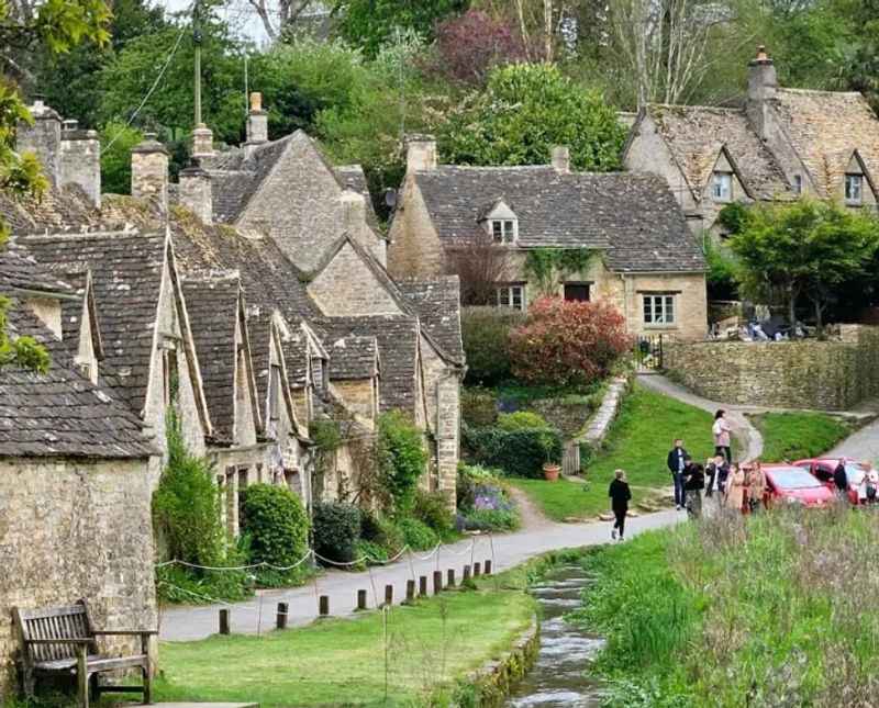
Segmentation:
{"type": "Polygon", "coordinates": [[[422,327],[456,363],[464,363],[460,334],[460,281],[457,276],[397,283],[418,313],[422,327]]]}

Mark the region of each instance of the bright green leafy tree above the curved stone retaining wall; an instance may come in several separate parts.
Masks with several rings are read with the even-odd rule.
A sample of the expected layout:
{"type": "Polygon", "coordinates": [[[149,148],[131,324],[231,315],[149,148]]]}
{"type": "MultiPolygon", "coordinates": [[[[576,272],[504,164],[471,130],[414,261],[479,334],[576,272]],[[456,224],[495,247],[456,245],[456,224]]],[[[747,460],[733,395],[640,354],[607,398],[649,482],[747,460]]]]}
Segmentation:
{"type": "Polygon", "coordinates": [[[805,297],[821,333],[837,289],[863,276],[879,248],[879,222],[832,202],[765,205],[749,212],[730,247],[746,294],[779,292],[791,323],[797,302],[805,297]]]}

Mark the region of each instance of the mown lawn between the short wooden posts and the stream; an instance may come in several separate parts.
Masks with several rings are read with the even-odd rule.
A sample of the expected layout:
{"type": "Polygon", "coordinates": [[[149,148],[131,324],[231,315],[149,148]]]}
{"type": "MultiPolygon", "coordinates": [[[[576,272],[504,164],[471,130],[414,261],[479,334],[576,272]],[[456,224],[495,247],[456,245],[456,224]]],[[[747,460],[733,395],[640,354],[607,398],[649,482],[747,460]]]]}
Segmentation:
{"type": "MultiPolygon", "coordinates": [[[[525,566],[527,567],[527,566],[525,566]]],[[[528,626],[526,571],[479,581],[388,614],[388,696],[381,613],[253,636],[164,642],[157,700],[269,706],[424,706],[509,649],[528,626]]]]}

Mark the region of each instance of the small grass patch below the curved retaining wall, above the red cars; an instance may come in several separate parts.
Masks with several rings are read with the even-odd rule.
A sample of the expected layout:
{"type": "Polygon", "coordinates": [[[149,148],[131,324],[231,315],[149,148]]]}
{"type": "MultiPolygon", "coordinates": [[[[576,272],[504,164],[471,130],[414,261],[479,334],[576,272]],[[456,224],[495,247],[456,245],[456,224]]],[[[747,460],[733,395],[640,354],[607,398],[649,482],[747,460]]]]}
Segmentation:
{"type": "Polygon", "coordinates": [[[850,435],[855,423],[823,413],[765,413],[750,416],[764,439],[767,462],[817,457],[850,435]]]}

